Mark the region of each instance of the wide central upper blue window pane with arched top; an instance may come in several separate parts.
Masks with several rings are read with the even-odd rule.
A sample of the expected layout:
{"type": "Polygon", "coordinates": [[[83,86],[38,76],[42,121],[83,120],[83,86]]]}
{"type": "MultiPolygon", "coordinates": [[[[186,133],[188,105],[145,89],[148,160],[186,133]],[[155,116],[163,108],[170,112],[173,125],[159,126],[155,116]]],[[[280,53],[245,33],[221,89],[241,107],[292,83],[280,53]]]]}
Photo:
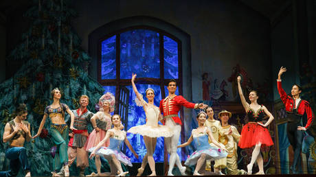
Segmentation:
{"type": "Polygon", "coordinates": [[[159,33],[135,29],[121,34],[120,78],[159,78],[159,33]]]}

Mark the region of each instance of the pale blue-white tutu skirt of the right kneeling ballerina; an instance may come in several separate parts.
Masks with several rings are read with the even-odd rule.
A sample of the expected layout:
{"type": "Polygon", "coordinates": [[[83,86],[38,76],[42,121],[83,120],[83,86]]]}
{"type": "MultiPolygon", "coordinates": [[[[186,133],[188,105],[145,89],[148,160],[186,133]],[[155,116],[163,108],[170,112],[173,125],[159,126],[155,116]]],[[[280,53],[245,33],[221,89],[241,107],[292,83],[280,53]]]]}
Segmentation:
{"type": "Polygon", "coordinates": [[[211,147],[210,149],[207,149],[207,150],[199,150],[199,151],[196,150],[188,157],[184,165],[196,165],[201,154],[206,155],[205,160],[211,160],[211,161],[225,158],[227,156],[227,152],[219,149],[218,147],[211,147]]]}

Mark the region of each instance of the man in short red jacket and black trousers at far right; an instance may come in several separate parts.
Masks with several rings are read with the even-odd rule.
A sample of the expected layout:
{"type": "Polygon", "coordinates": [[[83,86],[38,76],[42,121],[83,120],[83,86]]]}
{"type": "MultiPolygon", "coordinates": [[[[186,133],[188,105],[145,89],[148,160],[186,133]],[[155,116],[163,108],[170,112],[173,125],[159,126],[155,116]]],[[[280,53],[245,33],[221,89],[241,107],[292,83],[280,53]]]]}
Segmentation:
{"type": "Polygon", "coordinates": [[[282,88],[281,84],[281,75],[282,73],[286,72],[286,68],[281,67],[279,74],[278,74],[278,91],[280,94],[280,97],[282,99],[282,102],[285,105],[286,115],[288,119],[287,127],[286,127],[286,133],[287,137],[293,147],[294,150],[294,159],[293,159],[293,165],[291,166],[291,170],[293,174],[297,173],[296,171],[296,165],[300,163],[300,153],[302,150],[302,142],[304,138],[304,134],[302,132],[308,130],[308,128],[311,128],[311,125],[314,121],[314,114],[313,110],[311,109],[311,106],[309,106],[309,103],[300,98],[300,93],[302,93],[302,88],[294,84],[292,86],[291,90],[291,96],[286,95],[285,91],[282,88]],[[307,123],[305,126],[302,126],[302,117],[306,113],[307,115],[307,123]]]}

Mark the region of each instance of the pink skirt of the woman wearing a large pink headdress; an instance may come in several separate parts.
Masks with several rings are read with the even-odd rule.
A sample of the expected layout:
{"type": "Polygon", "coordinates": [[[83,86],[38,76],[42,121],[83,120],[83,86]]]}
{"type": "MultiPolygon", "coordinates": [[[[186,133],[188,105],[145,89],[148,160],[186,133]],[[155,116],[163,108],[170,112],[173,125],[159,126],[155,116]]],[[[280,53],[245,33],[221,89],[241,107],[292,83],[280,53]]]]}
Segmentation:
{"type": "MultiPolygon", "coordinates": [[[[96,132],[95,129],[91,132],[91,134],[89,134],[89,137],[86,141],[86,143],[84,144],[84,150],[89,150],[91,147],[95,147],[98,145],[98,143],[100,143],[100,141],[102,141],[102,139],[104,139],[106,134],[105,130],[100,129],[99,132],[96,132]]],[[[108,141],[106,141],[102,146],[108,147],[110,145],[110,139],[108,139],[108,141]]]]}

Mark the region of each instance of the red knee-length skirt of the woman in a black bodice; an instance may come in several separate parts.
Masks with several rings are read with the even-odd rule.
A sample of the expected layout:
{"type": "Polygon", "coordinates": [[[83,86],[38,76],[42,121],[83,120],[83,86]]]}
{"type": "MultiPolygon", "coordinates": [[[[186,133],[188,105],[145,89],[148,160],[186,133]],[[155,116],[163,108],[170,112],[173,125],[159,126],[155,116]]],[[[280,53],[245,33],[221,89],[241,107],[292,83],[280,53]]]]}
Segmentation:
{"type": "Polygon", "coordinates": [[[269,130],[256,122],[249,122],[241,130],[238,146],[245,149],[258,143],[261,143],[262,146],[273,145],[269,130]]]}

